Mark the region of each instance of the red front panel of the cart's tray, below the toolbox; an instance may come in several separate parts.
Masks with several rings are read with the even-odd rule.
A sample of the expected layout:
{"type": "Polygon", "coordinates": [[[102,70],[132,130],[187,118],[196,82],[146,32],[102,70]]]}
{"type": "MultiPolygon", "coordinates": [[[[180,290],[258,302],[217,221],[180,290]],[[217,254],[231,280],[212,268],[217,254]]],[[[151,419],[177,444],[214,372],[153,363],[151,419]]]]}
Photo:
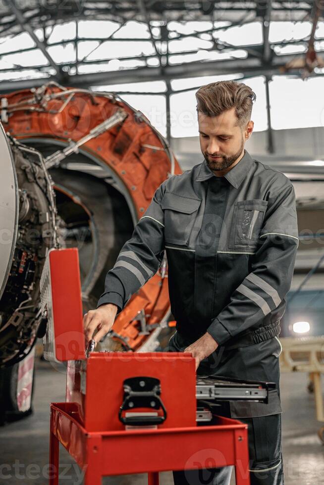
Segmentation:
{"type": "Polygon", "coordinates": [[[157,472],[235,463],[233,432],[221,426],[147,431],[146,434],[123,432],[107,436],[103,444],[107,457],[104,475],[145,473],[148,468],[157,472]],[[140,452],[134,453],[134,450],[140,452]]]}

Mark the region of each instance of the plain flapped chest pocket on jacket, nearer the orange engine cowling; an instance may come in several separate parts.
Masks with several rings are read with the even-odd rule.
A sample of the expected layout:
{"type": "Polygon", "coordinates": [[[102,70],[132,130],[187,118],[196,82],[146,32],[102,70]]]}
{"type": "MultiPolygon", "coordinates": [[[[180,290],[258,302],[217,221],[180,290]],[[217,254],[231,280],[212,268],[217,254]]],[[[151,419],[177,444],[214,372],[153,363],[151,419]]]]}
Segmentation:
{"type": "Polygon", "coordinates": [[[165,242],[188,244],[200,204],[200,199],[165,192],[161,202],[165,242]]]}

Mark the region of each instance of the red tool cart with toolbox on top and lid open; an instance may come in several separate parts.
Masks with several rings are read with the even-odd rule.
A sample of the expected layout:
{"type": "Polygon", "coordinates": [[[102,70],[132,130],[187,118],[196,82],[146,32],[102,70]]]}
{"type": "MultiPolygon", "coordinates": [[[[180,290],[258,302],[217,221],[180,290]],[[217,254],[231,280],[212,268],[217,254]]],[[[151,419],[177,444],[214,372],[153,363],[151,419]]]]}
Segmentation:
{"type": "Polygon", "coordinates": [[[68,361],[66,402],[51,404],[50,485],[58,484],[58,445],[84,471],[103,476],[234,465],[249,485],[247,426],[214,417],[197,424],[195,360],[169,352],[91,352],[85,356],[77,249],[49,252],[41,279],[48,318],[45,357],[68,361]]]}

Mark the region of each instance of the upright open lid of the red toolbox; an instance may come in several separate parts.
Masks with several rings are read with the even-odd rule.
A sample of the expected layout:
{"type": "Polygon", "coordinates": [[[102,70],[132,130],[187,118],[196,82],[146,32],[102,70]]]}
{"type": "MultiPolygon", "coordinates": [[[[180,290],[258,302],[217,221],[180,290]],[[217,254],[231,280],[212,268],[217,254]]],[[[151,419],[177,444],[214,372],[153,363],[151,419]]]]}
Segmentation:
{"type": "Polygon", "coordinates": [[[40,290],[42,314],[47,318],[45,359],[52,362],[85,359],[77,248],[48,252],[40,290]]]}

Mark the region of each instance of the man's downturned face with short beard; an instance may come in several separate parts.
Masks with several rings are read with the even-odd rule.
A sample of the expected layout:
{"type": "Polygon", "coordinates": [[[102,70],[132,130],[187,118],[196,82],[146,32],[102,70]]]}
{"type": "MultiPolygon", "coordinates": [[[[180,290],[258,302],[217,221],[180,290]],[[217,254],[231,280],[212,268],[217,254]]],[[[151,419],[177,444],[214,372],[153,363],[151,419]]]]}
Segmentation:
{"type": "Polygon", "coordinates": [[[235,108],[219,116],[198,113],[200,147],[208,167],[213,171],[226,170],[243,155],[246,140],[253,130],[253,121],[238,125],[235,108]]]}

